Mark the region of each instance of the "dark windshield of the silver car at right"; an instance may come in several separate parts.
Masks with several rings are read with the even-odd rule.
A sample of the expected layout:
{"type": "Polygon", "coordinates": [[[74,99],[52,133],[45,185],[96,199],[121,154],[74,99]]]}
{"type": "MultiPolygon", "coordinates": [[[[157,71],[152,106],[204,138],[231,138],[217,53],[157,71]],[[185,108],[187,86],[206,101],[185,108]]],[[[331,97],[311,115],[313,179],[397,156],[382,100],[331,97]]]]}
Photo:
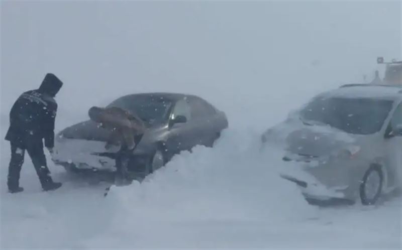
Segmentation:
{"type": "Polygon", "coordinates": [[[306,124],[328,124],[349,134],[368,135],[381,130],[391,108],[391,100],[319,97],[300,111],[300,119],[306,124]]]}

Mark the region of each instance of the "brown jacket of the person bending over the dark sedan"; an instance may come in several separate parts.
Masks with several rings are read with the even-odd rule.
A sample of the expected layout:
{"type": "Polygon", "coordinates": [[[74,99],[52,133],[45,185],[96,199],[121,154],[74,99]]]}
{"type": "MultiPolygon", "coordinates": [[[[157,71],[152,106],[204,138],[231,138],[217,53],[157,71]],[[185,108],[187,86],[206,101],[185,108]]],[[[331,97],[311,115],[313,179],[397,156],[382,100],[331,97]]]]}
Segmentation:
{"type": "Polygon", "coordinates": [[[107,147],[120,144],[132,150],[135,147],[134,137],[144,134],[146,129],[144,122],[136,114],[119,107],[91,107],[88,115],[91,120],[112,131],[107,147]]]}

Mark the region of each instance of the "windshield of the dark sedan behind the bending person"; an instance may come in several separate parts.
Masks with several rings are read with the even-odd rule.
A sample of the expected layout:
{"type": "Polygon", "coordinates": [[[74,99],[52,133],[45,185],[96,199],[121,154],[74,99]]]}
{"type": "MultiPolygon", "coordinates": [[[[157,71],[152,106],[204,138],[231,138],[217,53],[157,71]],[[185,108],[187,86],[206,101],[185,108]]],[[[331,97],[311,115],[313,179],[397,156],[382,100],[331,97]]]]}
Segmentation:
{"type": "Polygon", "coordinates": [[[135,112],[148,125],[160,124],[167,119],[172,105],[170,100],[154,96],[124,96],[108,105],[135,112]]]}

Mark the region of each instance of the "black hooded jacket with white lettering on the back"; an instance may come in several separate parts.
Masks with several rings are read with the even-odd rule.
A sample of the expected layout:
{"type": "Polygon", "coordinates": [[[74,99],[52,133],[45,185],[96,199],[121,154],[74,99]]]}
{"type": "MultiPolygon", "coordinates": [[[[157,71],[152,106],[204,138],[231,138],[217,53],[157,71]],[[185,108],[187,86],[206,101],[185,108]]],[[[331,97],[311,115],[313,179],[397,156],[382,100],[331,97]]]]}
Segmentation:
{"type": "Polygon", "coordinates": [[[10,128],[6,140],[17,147],[42,144],[54,146],[54,121],[57,103],[54,99],[63,83],[51,73],[46,74],[39,89],[24,92],[10,111],[10,128]]]}

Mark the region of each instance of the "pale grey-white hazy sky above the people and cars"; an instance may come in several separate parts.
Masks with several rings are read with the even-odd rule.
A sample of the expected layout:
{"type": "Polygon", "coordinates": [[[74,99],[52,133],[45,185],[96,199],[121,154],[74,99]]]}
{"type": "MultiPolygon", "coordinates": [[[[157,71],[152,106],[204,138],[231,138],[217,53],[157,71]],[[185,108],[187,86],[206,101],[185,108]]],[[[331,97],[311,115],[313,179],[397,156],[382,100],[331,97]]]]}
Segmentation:
{"type": "Polygon", "coordinates": [[[401,58],[400,1],[2,1],[1,22],[3,115],[53,72],[65,83],[61,118],[125,93],[176,91],[267,123],[265,113],[371,79],[377,56],[401,58]]]}

